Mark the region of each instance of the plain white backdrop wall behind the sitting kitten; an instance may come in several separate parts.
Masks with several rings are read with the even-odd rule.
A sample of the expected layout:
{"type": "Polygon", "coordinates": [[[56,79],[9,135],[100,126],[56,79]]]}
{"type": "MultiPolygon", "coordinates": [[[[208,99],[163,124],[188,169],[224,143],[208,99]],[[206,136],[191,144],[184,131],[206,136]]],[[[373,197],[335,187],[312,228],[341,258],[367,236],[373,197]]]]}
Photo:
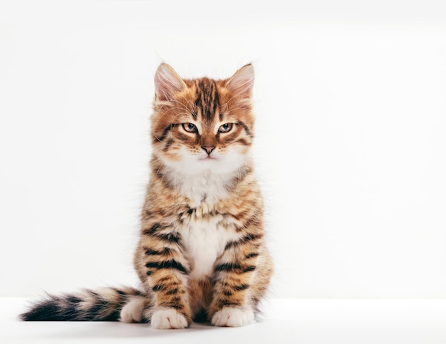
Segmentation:
{"type": "Polygon", "coordinates": [[[426,0],[0,0],[0,296],[135,285],[161,61],[254,63],[271,296],[446,297],[446,5],[426,0]]]}

